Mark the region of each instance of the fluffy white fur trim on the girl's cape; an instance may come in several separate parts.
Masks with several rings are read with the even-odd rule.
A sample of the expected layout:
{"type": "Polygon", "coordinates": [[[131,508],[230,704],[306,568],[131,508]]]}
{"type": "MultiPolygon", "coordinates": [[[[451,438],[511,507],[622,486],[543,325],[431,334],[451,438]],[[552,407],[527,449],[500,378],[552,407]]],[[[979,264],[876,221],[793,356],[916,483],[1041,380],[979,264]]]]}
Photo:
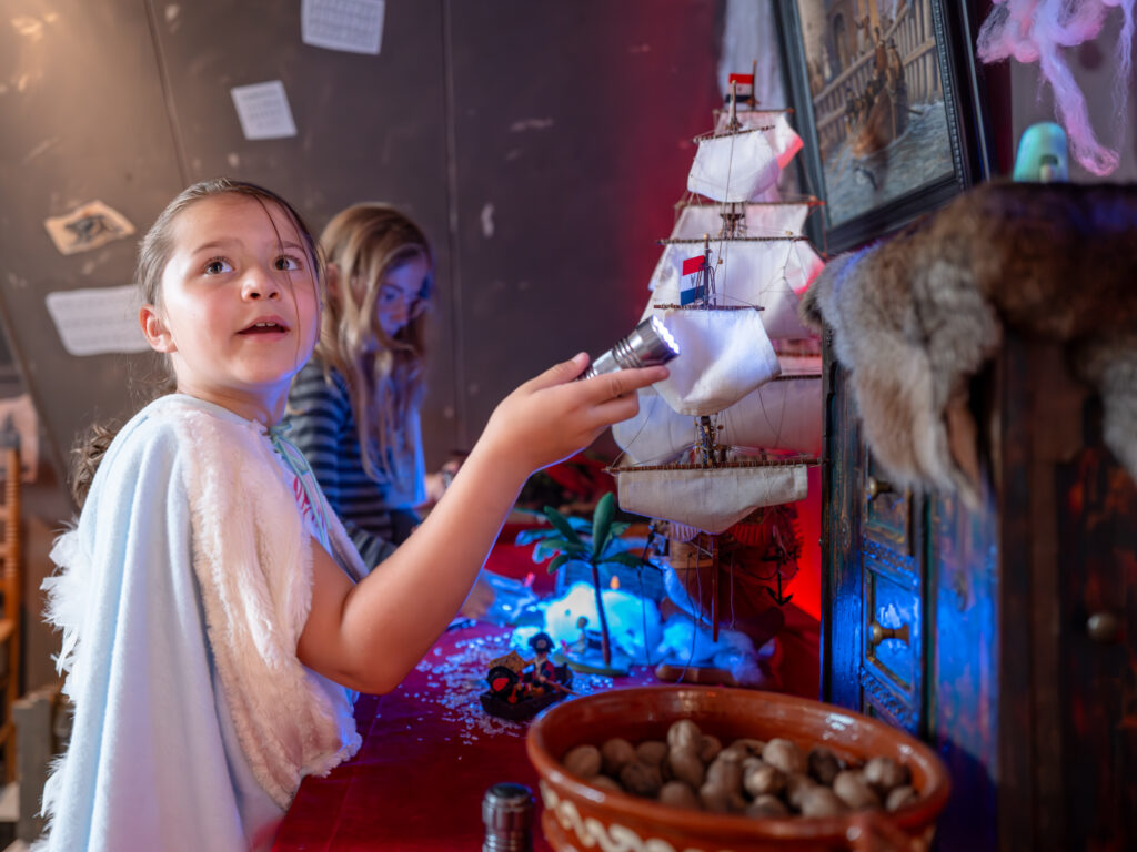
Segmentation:
{"type": "MultiPolygon", "coordinates": [[[[312,604],[313,575],[312,531],[297,506],[291,474],[263,427],[208,403],[163,398],[127,424],[119,438],[130,441],[133,435],[126,433],[143,419],[173,432],[173,469],[182,479],[175,485],[186,494],[191,528],[168,534],[172,540],[191,534],[209,652],[233,727],[258,784],[287,809],[305,775],[326,774],[360,744],[351,694],[307,669],[296,655],[312,604]]],[[[89,506],[100,496],[98,484],[89,506]]],[[[97,662],[84,657],[84,636],[97,628],[90,601],[102,579],[84,544],[93,541],[84,535],[85,519],[86,512],[75,529],[57,540],[51,558],[60,570],[43,583],[45,620],[64,633],[57,658],[59,670],[67,673],[64,692],[76,705],[85,700],[89,671],[97,662]]],[[[366,569],[342,525],[334,515],[327,523],[341,566],[354,579],[363,577],[366,569]]],[[[49,816],[66,760],[59,760],[44,791],[43,811],[49,816]]]]}

